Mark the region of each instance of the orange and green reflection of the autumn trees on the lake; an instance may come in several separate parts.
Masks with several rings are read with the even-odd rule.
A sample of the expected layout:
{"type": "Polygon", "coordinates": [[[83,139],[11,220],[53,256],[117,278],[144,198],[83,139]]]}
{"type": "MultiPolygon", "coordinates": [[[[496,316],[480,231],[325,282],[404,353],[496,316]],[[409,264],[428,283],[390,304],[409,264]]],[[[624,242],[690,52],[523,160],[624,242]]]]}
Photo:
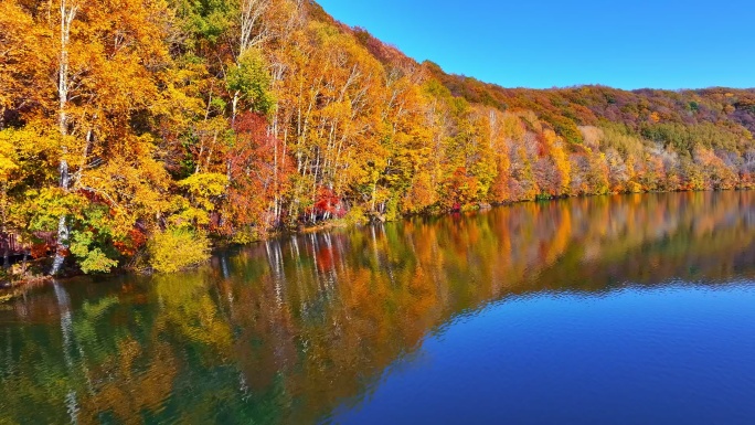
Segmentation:
{"type": "Polygon", "coordinates": [[[528,203],[55,284],[0,305],[0,423],[315,423],[490,302],[754,277],[754,201],[528,203]]]}

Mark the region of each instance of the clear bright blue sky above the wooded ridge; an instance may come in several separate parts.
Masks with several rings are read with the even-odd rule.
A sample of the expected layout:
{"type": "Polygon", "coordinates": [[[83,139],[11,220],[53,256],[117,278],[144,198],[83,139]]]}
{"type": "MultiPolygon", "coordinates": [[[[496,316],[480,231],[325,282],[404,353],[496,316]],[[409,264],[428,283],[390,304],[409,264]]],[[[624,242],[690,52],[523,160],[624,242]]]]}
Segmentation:
{"type": "Polygon", "coordinates": [[[318,0],[446,72],[506,87],[755,87],[755,0],[318,0]]]}

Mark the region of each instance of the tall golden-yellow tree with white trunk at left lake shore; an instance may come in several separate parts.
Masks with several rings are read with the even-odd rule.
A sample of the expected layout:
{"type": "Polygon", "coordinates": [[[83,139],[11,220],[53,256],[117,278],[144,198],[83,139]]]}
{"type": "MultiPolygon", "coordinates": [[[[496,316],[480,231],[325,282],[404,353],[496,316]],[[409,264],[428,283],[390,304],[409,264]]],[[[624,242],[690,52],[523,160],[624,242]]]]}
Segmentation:
{"type": "Polygon", "coordinates": [[[138,220],[148,227],[167,208],[169,177],[150,135],[150,108],[170,64],[171,12],[158,0],[24,4],[19,20],[31,25],[34,49],[23,61],[39,71],[36,94],[20,114],[56,140],[45,155],[59,176],[26,196],[28,210],[36,211],[30,225],[52,230],[55,216],[53,274],[70,249],[85,270],[107,270],[117,253],[105,246],[128,245],[138,220]]]}

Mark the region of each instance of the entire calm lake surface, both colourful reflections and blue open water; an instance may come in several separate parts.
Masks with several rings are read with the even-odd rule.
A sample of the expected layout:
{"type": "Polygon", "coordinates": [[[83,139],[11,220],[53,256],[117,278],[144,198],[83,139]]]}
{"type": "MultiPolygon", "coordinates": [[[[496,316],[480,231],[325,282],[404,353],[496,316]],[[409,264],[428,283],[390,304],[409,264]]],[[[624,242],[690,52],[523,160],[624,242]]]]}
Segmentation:
{"type": "Polygon", "coordinates": [[[755,424],[755,192],[284,237],[0,305],[0,424],[755,424]]]}

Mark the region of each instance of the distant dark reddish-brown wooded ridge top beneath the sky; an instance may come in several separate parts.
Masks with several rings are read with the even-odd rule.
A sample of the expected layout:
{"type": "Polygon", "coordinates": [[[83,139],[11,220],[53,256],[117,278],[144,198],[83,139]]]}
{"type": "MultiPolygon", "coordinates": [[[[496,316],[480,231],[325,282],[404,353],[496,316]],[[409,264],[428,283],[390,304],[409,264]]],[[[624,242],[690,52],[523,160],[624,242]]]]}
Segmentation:
{"type": "MultiPolygon", "coordinates": [[[[755,131],[755,89],[714,87],[626,92],[603,86],[581,86],[534,91],[503,88],[475,78],[448,75],[433,63],[426,66],[455,96],[503,110],[533,110],[575,144],[583,141],[578,126],[596,126],[602,121],[621,124],[628,131],[657,142],[673,142],[672,138],[653,135],[655,130],[650,127],[660,123],[685,127],[712,124],[721,127],[721,130],[727,128],[745,137],[748,137],[745,130],[751,134],[755,131]]],[[[694,139],[694,135],[691,137],[694,139]]]]}

